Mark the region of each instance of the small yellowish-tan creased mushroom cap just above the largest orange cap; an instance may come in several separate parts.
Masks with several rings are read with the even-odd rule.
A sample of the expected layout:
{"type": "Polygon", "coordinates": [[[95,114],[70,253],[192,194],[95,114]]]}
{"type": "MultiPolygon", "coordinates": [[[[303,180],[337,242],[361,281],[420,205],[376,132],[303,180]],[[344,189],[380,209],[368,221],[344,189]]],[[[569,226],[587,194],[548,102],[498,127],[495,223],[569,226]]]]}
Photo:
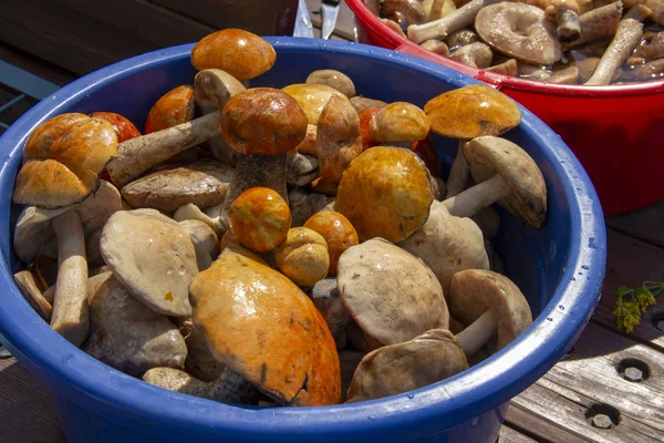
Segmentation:
{"type": "Polygon", "coordinates": [[[315,230],[297,227],[274,251],[277,267],[298,286],[312,286],[328,276],[330,255],[325,239],[315,230]]]}

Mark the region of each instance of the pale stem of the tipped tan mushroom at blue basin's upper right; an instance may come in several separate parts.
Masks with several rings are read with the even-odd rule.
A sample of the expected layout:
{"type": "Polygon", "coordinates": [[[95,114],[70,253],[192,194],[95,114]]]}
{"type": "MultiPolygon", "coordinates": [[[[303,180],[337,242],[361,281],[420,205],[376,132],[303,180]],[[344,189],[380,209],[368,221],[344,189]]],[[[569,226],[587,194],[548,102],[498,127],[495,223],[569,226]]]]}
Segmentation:
{"type": "Polygon", "coordinates": [[[510,195],[511,190],[508,184],[500,175],[496,174],[488,181],[445,199],[443,204],[449,210],[449,214],[456,217],[470,217],[480,209],[510,195]]]}

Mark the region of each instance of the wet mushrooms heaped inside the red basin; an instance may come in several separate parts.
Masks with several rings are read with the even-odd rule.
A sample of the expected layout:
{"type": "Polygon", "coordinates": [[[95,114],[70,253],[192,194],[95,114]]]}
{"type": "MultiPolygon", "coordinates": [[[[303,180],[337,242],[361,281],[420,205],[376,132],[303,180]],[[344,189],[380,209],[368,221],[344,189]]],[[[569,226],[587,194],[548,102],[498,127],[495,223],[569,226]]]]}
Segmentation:
{"type": "Polygon", "coordinates": [[[558,84],[664,78],[662,0],[365,0],[395,32],[471,68],[558,84]]]}

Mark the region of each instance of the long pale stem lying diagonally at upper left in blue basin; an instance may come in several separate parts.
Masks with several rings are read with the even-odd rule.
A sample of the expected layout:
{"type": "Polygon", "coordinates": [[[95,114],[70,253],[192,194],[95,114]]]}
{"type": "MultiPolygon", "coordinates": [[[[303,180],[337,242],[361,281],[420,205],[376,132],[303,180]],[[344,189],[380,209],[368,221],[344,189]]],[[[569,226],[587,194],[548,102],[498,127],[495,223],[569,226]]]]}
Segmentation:
{"type": "Polygon", "coordinates": [[[219,135],[219,112],[122,142],[117,157],[106,165],[111,179],[122,187],[180,152],[219,135]]]}

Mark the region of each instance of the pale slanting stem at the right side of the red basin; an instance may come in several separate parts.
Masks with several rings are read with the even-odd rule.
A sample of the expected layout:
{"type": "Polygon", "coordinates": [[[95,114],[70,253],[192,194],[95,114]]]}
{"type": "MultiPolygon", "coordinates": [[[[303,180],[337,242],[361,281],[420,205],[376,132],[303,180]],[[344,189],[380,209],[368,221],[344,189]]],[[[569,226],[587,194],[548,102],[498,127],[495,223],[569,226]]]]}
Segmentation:
{"type": "Polygon", "coordinates": [[[615,71],[627,60],[643,37],[643,23],[634,19],[624,19],[618,27],[615,37],[600,59],[600,63],[587,85],[611,83],[615,71]]]}

